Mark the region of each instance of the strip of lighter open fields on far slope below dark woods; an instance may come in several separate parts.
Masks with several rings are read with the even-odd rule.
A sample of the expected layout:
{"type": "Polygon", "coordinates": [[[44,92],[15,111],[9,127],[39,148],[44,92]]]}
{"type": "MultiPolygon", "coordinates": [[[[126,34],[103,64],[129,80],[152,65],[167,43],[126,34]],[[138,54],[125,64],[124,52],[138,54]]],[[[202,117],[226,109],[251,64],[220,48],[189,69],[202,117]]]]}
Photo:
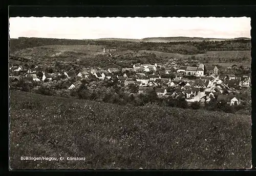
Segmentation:
{"type": "MultiPolygon", "coordinates": [[[[47,45],[22,49],[14,53],[16,56],[26,57],[26,58],[36,58],[40,59],[41,57],[55,58],[61,56],[70,57],[71,55],[85,56],[85,55],[102,55],[104,46],[102,45],[47,45]]],[[[106,47],[106,52],[109,51],[106,47]]],[[[153,50],[139,50],[137,53],[133,50],[126,51],[113,51],[112,54],[117,56],[122,56],[130,54],[132,57],[136,57],[138,54],[143,53],[154,53],[158,57],[167,57],[167,58],[176,58],[176,59],[189,59],[192,56],[195,56],[195,59],[204,59],[207,58],[209,62],[228,62],[233,58],[247,58],[243,63],[251,62],[251,51],[208,51],[204,54],[196,55],[182,55],[177,53],[166,53],[153,50]],[[220,59],[220,60],[219,60],[220,59]]],[[[63,58],[63,57],[61,57],[63,58]]]]}

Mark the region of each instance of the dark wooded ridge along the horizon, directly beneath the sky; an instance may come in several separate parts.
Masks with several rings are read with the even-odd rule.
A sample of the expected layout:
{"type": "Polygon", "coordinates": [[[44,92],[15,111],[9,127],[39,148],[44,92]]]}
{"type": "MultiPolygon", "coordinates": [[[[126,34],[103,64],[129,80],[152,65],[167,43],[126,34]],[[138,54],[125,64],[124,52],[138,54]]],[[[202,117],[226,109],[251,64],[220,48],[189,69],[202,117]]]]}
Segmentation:
{"type": "MultiPolygon", "coordinates": [[[[146,39],[145,39],[146,40],[146,39]]],[[[154,50],[178,54],[203,54],[207,51],[250,51],[251,41],[233,39],[225,41],[177,41],[177,42],[134,42],[118,40],[71,40],[53,38],[26,38],[10,39],[10,52],[20,49],[44,45],[102,45],[112,49],[154,50]]]]}

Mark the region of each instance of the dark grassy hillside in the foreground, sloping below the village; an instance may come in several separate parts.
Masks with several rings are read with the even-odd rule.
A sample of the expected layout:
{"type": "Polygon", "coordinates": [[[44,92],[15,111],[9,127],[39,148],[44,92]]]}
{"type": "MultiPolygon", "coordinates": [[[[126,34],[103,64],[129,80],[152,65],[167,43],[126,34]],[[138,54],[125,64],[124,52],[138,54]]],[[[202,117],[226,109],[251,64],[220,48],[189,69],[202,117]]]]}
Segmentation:
{"type": "Polygon", "coordinates": [[[10,92],[11,168],[250,168],[251,117],[10,92]],[[20,156],[86,161],[21,161],[20,156]]]}

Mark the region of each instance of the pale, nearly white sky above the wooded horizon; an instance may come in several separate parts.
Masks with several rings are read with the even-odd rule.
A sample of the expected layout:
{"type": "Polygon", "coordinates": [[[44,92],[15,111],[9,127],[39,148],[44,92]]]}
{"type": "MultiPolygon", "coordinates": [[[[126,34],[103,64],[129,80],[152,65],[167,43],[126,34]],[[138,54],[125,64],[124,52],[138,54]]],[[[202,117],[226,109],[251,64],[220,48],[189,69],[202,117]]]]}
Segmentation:
{"type": "Polygon", "coordinates": [[[10,38],[250,38],[248,17],[11,17],[10,38]]]}

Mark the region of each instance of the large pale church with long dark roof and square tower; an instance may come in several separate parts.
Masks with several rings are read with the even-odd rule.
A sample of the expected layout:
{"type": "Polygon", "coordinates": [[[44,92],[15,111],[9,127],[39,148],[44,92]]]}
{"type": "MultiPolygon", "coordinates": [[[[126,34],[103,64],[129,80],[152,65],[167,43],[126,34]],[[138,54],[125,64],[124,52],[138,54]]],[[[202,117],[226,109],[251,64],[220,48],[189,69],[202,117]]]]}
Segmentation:
{"type": "Polygon", "coordinates": [[[180,67],[177,70],[177,73],[183,73],[186,76],[203,77],[204,76],[204,64],[199,63],[198,67],[191,67],[191,66],[180,67]]]}

